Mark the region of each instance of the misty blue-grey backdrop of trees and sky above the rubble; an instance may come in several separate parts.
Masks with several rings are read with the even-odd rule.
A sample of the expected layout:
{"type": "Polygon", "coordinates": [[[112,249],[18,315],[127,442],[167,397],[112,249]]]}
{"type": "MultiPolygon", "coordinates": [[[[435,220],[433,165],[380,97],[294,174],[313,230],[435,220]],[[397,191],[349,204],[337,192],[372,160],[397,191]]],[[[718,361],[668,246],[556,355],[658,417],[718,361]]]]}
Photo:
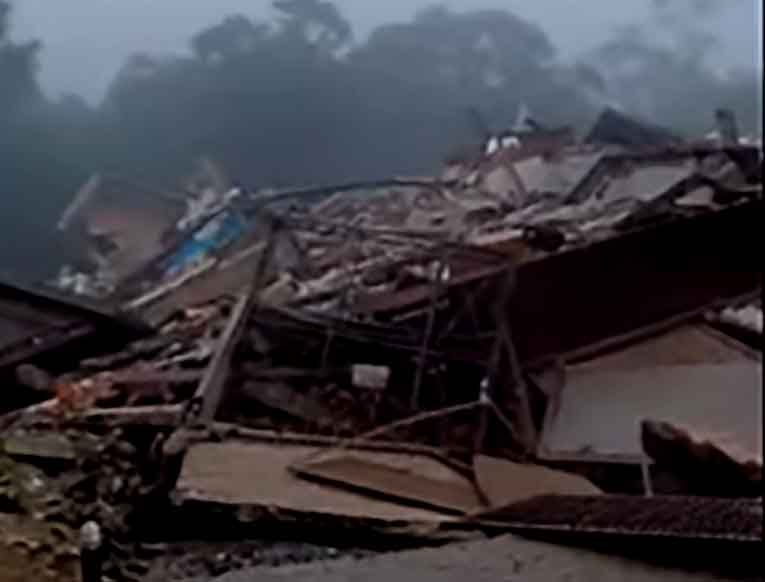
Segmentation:
{"type": "Polygon", "coordinates": [[[250,188],[431,175],[480,138],[470,112],[499,130],[522,104],[550,126],[611,105],[687,136],[727,107],[759,133],[748,0],[368,4],[0,0],[0,271],[60,263],[53,225],[95,171],[173,188],[210,156],[250,188]]]}

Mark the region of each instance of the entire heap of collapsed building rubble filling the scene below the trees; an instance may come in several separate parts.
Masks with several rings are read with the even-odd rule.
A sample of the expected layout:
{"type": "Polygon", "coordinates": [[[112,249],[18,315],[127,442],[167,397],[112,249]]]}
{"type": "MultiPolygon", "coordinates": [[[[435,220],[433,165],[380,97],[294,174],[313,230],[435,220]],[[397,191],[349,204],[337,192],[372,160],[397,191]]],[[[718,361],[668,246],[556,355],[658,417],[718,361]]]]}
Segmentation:
{"type": "Polygon", "coordinates": [[[213,575],[572,519],[748,551],[750,524],[654,518],[760,495],[761,160],[607,112],[437,179],[248,192],[204,162],[191,198],[123,203],[94,177],[59,225],[87,260],[2,286],[0,553],[182,579],[179,552],[213,575]]]}

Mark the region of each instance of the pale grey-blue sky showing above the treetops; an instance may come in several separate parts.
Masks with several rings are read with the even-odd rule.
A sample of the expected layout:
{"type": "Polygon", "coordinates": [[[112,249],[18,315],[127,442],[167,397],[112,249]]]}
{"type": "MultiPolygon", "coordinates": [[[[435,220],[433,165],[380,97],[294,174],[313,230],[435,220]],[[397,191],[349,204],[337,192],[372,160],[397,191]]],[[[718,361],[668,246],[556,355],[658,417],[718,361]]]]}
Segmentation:
{"type": "MultiPolygon", "coordinates": [[[[14,36],[41,39],[41,79],[51,94],[76,92],[101,98],[120,64],[131,53],[177,53],[200,29],[240,12],[271,14],[270,0],[11,0],[14,36]]],[[[668,0],[676,4],[691,0],[668,0]]],[[[762,0],[693,0],[718,9],[703,23],[721,46],[721,66],[760,61],[762,0]]],[[[430,0],[335,0],[359,35],[375,25],[407,20],[430,0]]],[[[660,0],[451,0],[457,10],[504,8],[537,22],[563,57],[591,49],[615,27],[652,22],[660,0]]],[[[655,23],[655,19],[653,20],[655,23]]]]}

